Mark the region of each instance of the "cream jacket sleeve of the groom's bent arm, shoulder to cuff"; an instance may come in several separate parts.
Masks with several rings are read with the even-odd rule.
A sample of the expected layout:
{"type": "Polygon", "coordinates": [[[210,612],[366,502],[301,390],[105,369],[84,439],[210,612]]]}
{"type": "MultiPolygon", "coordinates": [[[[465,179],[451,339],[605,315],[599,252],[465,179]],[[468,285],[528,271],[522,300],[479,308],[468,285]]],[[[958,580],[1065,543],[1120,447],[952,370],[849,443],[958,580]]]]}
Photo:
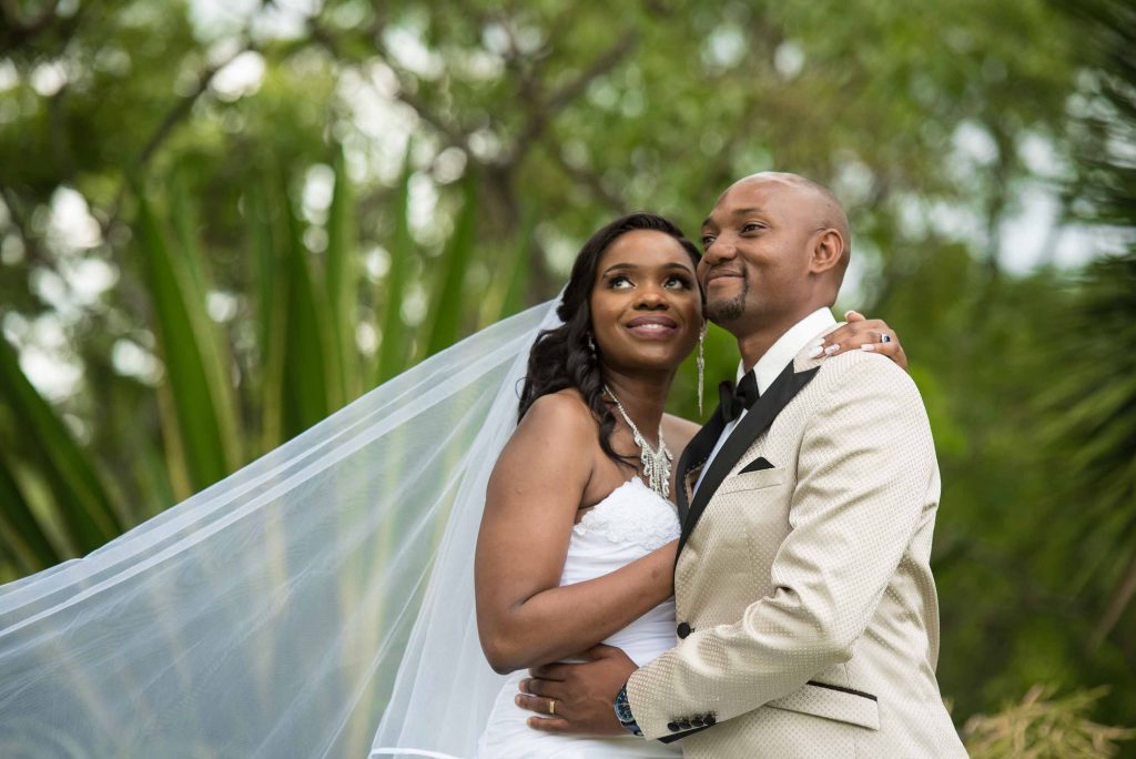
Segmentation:
{"type": "Polygon", "coordinates": [[[675,734],[684,715],[749,712],[851,658],[912,535],[934,518],[938,469],[914,384],[877,357],[840,364],[802,440],[776,590],[630,676],[648,737],[675,734]]]}

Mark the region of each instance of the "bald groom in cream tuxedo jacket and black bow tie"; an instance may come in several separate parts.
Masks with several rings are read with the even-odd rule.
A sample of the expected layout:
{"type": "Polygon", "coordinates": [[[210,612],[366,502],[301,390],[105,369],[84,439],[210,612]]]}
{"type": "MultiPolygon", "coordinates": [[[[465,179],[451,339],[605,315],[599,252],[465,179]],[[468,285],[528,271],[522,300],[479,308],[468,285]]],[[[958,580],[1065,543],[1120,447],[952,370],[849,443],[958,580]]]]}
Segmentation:
{"type": "Polygon", "coordinates": [[[892,361],[821,362],[850,235],[792,174],[728,187],[702,225],[709,317],[745,374],[679,460],[678,644],[549,665],[537,729],[683,739],[687,757],[964,757],[935,679],[939,495],[922,401],[892,361]],[[548,711],[543,712],[548,715],[548,711]]]}

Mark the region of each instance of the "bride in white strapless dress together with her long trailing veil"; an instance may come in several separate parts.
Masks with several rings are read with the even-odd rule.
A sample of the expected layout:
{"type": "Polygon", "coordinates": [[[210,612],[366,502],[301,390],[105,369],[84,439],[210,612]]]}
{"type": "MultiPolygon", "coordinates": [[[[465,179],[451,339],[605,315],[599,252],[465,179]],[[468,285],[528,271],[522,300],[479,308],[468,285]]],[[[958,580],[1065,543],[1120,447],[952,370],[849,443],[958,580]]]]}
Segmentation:
{"type": "MultiPolygon", "coordinates": [[[[662,401],[701,299],[679,281],[696,251],[650,228],[634,237],[651,244],[590,243],[565,303],[462,341],[93,553],[0,586],[0,756],[468,757],[479,741],[484,756],[531,754],[518,675],[486,664],[477,618],[502,672],[602,640],[642,660],[669,648],[677,523],[655,447],[677,454],[694,429],[662,401]],[[642,270],[596,272],[601,255],[642,270]],[[635,306],[642,274],[654,292],[635,306]],[[674,326],[628,326],[636,309],[674,326]],[[528,372],[558,314],[560,337],[528,372]]],[[[537,753],[586,750],[540,740],[537,753]]],[[[659,750],[618,740],[629,756],[659,750]]]]}

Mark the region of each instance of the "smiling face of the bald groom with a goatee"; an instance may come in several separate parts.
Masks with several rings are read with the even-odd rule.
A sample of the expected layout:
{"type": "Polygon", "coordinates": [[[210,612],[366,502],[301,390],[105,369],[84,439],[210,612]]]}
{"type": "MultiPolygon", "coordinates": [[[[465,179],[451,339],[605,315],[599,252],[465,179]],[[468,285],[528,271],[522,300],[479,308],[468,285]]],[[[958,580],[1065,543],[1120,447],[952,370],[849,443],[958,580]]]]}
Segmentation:
{"type": "Polygon", "coordinates": [[[805,193],[779,178],[747,177],[722,193],[702,225],[699,264],[712,322],[741,335],[800,310],[815,233],[808,211],[805,193]]]}

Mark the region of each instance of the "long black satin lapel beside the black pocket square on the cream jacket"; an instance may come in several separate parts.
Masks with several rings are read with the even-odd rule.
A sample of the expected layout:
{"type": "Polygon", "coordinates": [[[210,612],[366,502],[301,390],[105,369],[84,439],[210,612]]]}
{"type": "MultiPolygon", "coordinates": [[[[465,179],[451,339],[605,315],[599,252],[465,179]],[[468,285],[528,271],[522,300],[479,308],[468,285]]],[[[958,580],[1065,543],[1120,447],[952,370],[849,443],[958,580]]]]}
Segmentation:
{"type": "Polygon", "coordinates": [[[678,536],[679,553],[686,545],[691,533],[694,532],[694,525],[699,523],[699,518],[705,511],[707,503],[710,502],[710,498],[713,497],[721,481],[737,465],[738,459],[753,444],[758,435],[769,428],[782,409],[788,406],[788,402],[809,384],[819,369],[818,366],[794,373],[793,364],[788,364],[774,380],[774,384],[769,385],[769,389],[753,404],[753,408],[746,412],[745,418],[734,428],[721,450],[718,451],[718,456],[713,457],[713,461],[710,462],[710,469],[702,478],[702,484],[699,485],[698,492],[694,493],[694,500],[684,515],[683,532],[678,536]]]}

